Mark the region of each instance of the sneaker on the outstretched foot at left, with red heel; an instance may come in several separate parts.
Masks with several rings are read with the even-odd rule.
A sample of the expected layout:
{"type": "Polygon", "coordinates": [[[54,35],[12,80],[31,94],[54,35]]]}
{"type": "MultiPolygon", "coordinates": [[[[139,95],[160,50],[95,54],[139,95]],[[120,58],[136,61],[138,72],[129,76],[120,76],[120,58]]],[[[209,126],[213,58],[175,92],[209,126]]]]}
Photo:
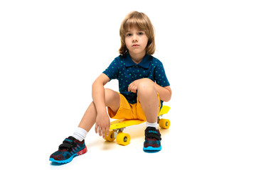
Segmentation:
{"type": "Polygon", "coordinates": [[[70,136],[65,138],[63,144],[59,146],[58,151],[50,155],[50,161],[65,164],[71,162],[73,157],[85,154],[86,152],[85,140],[80,142],[75,137],[70,136]]]}

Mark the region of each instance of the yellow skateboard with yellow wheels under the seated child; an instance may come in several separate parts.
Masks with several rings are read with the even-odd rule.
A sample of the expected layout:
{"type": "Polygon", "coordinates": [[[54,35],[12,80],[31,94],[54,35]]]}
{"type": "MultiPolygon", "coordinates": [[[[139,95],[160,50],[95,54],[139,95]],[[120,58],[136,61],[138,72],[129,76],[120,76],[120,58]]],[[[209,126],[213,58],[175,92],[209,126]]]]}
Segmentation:
{"type": "MultiPolygon", "coordinates": [[[[162,115],[168,113],[170,110],[169,106],[163,106],[161,108],[161,111],[157,117],[157,123],[159,123],[160,128],[168,129],[171,125],[170,120],[161,118],[162,115]]],[[[114,120],[110,123],[110,132],[107,137],[105,137],[105,140],[109,142],[113,142],[115,139],[117,139],[117,143],[119,145],[128,145],[130,142],[130,135],[127,133],[124,133],[124,128],[131,125],[139,125],[141,123],[144,123],[146,121],[144,120],[127,120],[127,119],[119,119],[114,120]]]]}

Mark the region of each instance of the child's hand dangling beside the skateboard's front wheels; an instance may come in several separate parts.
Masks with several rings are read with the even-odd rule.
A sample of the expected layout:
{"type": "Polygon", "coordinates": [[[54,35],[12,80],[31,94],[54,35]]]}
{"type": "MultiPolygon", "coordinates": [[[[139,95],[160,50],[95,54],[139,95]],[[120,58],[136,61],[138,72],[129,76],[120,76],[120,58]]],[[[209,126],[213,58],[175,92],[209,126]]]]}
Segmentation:
{"type": "Polygon", "coordinates": [[[105,136],[109,135],[110,130],[110,118],[107,113],[98,114],[95,123],[95,132],[99,132],[99,135],[105,139],[105,136]]]}

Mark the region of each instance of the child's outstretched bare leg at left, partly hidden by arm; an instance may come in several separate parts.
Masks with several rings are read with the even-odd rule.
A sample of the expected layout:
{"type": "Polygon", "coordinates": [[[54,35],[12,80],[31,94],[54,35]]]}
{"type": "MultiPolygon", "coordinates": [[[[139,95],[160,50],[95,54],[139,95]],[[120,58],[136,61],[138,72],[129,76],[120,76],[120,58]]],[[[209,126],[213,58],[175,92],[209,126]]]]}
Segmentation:
{"type": "MultiPolygon", "coordinates": [[[[106,106],[109,106],[112,109],[112,111],[117,112],[120,104],[119,94],[111,89],[105,89],[105,103],[106,106]]],[[[97,111],[95,103],[92,101],[90,106],[85,111],[85,114],[82,116],[82,120],[80,121],[78,127],[89,132],[96,122],[96,117],[97,111]]]]}

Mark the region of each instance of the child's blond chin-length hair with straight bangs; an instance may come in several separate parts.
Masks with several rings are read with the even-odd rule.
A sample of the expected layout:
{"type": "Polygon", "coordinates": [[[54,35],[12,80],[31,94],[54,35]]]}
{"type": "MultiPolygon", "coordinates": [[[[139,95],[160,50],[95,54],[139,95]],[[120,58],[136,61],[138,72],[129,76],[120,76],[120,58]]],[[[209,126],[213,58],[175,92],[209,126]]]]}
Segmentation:
{"type": "Polygon", "coordinates": [[[132,11],[122,21],[119,35],[121,39],[121,47],[119,48],[120,55],[124,55],[128,49],[125,45],[125,35],[129,28],[137,28],[143,30],[146,33],[146,37],[149,38],[146,45],[146,55],[153,55],[156,50],[155,39],[154,39],[154,27],[149,20],[149,17],[144,13],[132,11]]]}

